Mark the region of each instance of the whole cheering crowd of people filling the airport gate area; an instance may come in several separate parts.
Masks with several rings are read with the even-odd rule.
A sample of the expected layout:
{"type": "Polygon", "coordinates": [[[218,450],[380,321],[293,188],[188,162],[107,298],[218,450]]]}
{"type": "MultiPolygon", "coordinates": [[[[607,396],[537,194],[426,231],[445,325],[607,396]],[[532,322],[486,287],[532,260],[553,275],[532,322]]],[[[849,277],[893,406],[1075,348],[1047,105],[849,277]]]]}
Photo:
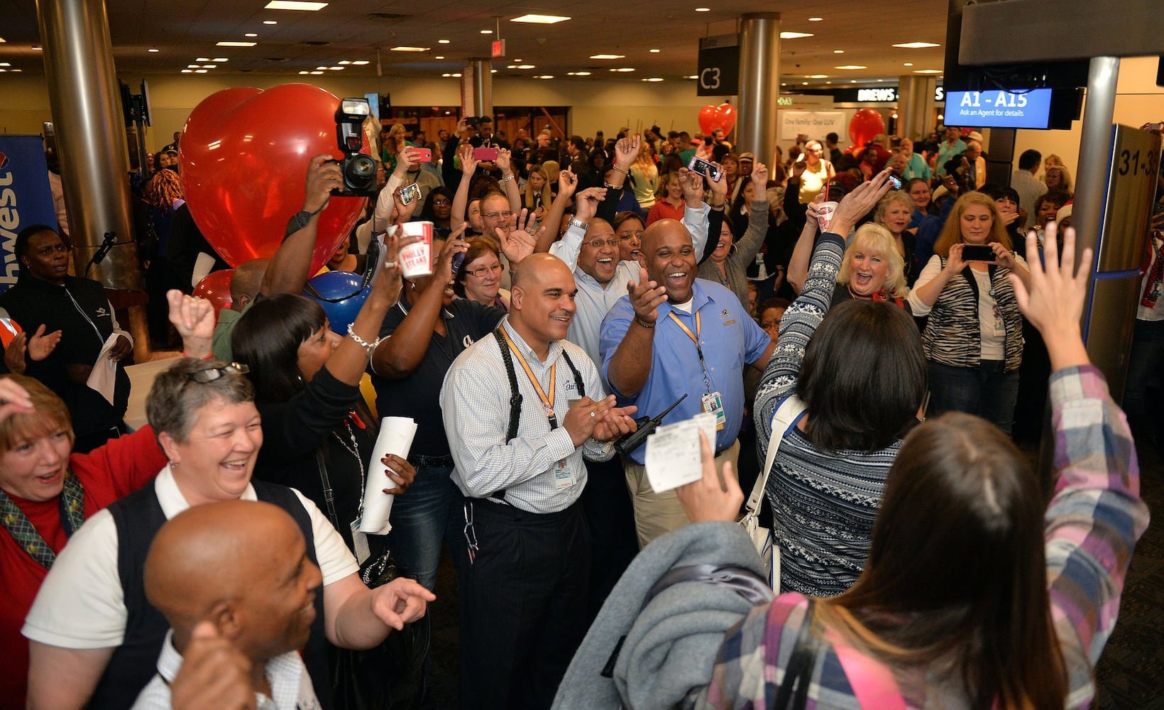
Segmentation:
{"type": "Polygon", "coordinates": [[[1148,511],[1079,334],[1071,175],[1027,151],[992,184],[977,133],[913,137],[801,136],[765,164],[722,132],[389,125],[325,267],[369,284],[334,326],[303,296],[345,199],[331,156],[215,313],[190,296],[213,249],[169,258],[190,218],[162,151],[142,243],[182,357],[135,432],[132,336],[58,232],[26,228],[0,294],[2,703],[425,707],[447,548],[464,708],[1085,707],[1148,511]],[[431,272],[405,278],[416,220],[431,272]],[[1016,409],[1028,372],[1050,507],[1013,443],[1042,428],[1016,409]],[[655,491],[626,440],[663,411],[715,432],[703,478],[655,491]],[[372,460],[382,417],[416,423],[406,457],[372,460]],[[760,475],[776,589],[734,525],[760,475]],[[360,530],[376,488],[386,534],[360,530]]]}

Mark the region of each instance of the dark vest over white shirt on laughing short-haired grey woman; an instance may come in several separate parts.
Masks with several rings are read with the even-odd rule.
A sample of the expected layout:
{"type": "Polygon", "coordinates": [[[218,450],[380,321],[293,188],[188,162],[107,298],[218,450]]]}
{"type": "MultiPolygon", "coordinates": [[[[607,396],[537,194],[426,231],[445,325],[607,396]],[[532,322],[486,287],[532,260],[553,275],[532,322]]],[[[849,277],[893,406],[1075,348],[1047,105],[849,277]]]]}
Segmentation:
{"type": "MultiPolygon", "coordinates": [[[[318,566],[311,517],[294,492],[284,485],[262,481],[251,481],[251,485],[255,487],[260,500],[278,505],[291,513],[306,540],[307,559],[318,566]]],[[[165,524],[165,513],[162,512],[162,504],[154,492],[154,481],[119,499],[106,510],[113,514],[113,521],[118,526],[118,576],[121,577],[128,617],[125,639],[113,652],[113,658],[109,659],[109,665],[87,707],[99,710],[121,710],[134,704],[137,694],[157,673],[157,656],[162,652],[165,632],[170,630],[170,623],[146,598],[146,588],[142,583],[146,554],[149,552],[150,542],[154,541],[154,535],[165,524]]],[[[311,626],[311,637],[307,639],[303,660],[320,704],[325,709],[331,708],[322,592],[315,595],[315,620],[311,626]]]]}

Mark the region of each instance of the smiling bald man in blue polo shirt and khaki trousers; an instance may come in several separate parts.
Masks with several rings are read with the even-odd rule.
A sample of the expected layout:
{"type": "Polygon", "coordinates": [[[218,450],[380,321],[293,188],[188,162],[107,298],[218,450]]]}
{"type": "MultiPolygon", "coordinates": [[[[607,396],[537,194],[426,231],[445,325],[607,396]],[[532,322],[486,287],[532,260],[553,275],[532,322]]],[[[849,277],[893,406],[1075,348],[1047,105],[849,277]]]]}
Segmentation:
{"type": "MultiPolygon", "coordinates": [[[[744,419],[744,364],[762,371],[775,345],[726,287],[695,278],[697,254],[677,221],[659,220],[643,234],[647,268],[627,284],[602,322],[603,374],[619,404],[658,416],[687,395],[663,420],[705,411],[717,417],[716,466],[739,455],[744,419]]],[[[639,545],[688,523],[674,491],[655,494],[643,466],[646,447],[623,461],[634,503],[639,545]]]]}

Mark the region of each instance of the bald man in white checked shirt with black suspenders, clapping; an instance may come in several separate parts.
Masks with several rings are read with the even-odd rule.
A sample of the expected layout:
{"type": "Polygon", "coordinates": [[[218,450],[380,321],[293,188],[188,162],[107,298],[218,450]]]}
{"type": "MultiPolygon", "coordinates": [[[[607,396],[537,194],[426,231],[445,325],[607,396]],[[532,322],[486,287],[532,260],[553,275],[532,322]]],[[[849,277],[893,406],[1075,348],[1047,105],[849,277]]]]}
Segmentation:
{"type": "Polygon", "coordinates": [[[585,634],[584,457],[609,460],[634,407],[616,407],[566,340],[575,292],[561,260],[526,257],[509,315],[457,356],[441,388],[468,523],[456,549],[462,708],[548,708],[585,634]]]}

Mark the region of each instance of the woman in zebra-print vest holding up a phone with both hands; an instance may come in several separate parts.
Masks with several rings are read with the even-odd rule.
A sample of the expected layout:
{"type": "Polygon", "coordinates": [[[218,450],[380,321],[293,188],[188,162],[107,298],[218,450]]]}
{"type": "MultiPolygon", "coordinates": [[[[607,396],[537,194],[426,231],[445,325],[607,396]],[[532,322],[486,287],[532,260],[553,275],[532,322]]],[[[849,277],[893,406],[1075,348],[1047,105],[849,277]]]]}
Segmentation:
{"type": "Polygon", "coordinates": [[[930,412],[967,412],[1009,434],[1022,364],[1022,314],[1007,278],[1024,284],[1027,262],[988,194],[954,203],[934,256],[922,269],[909,305],[929,315],[922,348],[929,362],[930,412]]]}

